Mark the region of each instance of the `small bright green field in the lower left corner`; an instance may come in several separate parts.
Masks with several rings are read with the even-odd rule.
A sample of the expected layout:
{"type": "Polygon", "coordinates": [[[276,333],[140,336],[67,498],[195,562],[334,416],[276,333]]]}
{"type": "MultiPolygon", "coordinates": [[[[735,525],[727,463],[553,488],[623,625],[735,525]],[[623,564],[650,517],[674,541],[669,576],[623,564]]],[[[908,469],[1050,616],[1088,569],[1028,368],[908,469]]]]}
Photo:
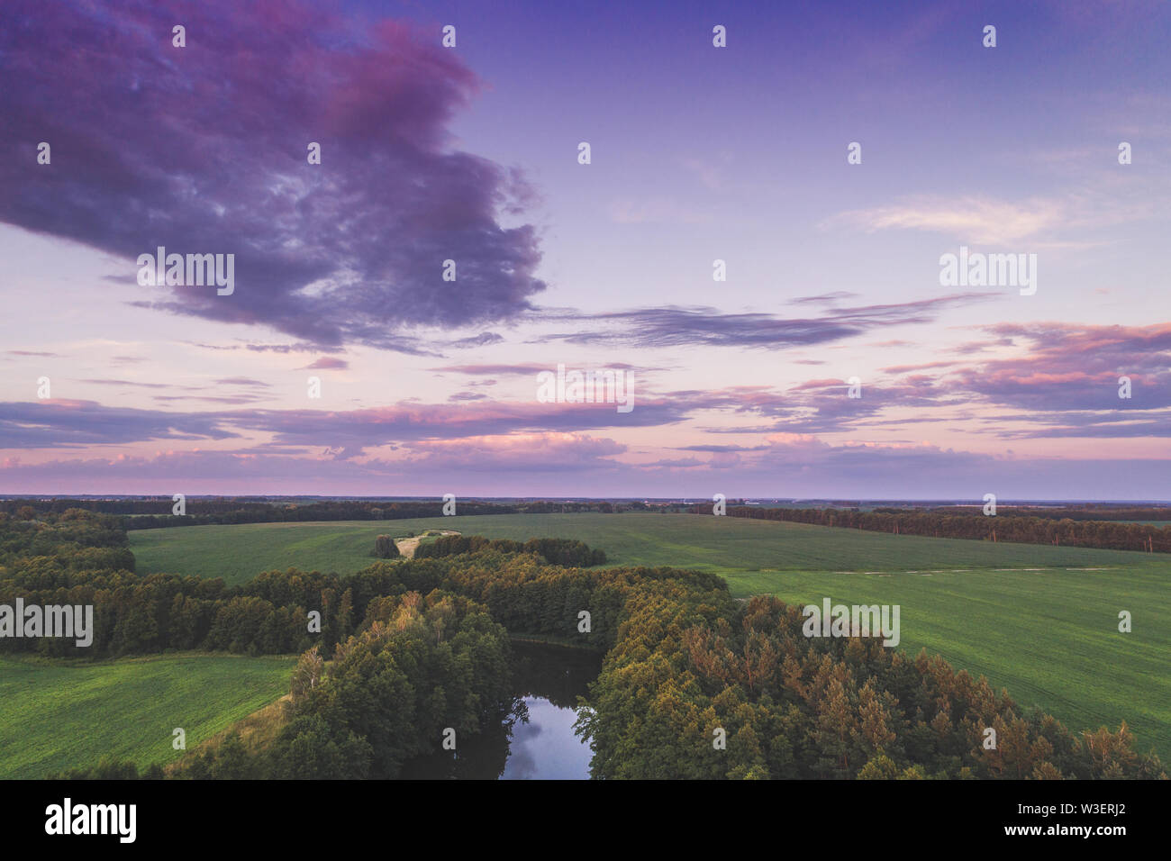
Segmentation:
{"type": "Polygon", "coordinates": [[[0,779],[165,764],[288,691],[296,658],[178,652],[97,663],[0,657],[0,779]]]}

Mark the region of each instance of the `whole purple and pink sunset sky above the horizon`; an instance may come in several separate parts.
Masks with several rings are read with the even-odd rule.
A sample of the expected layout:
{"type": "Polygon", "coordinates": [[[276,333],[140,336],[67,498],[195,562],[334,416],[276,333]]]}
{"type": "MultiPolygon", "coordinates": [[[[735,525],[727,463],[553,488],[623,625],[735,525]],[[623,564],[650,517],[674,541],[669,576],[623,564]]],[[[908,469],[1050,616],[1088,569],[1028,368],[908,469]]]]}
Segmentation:
{"type": "Polygon", "coordinates": [[[1145,0],[6,0],[0,493],[1171,499],[1169,43],[1145,0]]]}

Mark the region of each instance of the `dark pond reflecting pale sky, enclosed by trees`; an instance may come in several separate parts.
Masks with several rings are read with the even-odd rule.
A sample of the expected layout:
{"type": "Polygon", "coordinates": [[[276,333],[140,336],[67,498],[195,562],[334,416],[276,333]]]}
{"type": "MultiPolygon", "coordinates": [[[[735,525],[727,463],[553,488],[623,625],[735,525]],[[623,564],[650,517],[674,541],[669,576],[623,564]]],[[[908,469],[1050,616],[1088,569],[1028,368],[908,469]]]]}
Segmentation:
{"type": "Polygon", "coordinates": [[[587,780],[589,739],[574,733],[577,697],[602,656],[560,645],[512,643],[513,708],[499,729],[463,738],[456,751],[404,764],[408,780],[587,780]]]}

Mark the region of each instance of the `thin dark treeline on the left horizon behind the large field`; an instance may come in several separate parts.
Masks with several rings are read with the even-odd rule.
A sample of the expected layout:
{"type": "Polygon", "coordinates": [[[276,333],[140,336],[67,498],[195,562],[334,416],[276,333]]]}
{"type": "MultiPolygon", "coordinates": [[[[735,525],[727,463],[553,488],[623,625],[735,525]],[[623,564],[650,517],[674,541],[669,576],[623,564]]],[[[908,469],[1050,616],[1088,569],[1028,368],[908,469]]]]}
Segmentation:
{"type": "MultiPolygon", "coordinates": [[[[185,514],[172,514],[174,503],[159,499],[0,499],[0,513],[30,520],[37,514],[69,510],[124,515],[126,529],[157,529],[166,526],[206,526],[208,524],[308,522],[315,520],[403,520],[433,518],[443,514],[443,500],[377,501],[322,500],[316,503],[266,503],[232,497],[187,499],[185,514]]],[[[612,514],[619,510],[643,510],[642,503],[480,503],[459,501],[457,513],[465,514],[557,514],[584,511],[612,514]]]]}

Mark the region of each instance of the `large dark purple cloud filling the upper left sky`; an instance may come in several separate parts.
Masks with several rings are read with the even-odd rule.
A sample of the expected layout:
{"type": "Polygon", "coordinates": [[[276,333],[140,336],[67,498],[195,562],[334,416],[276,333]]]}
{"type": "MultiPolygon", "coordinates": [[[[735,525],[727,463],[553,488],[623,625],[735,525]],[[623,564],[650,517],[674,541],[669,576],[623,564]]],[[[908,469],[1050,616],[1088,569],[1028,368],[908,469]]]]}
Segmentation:
{"type": "Polygon", "coordinates": [[[231,296],[143,287],[141,303],[419,351],[396,328],[514,319],[545,288],[533,227],[497,220],[523,209],[523,179],[448,148],[479,84],[436,33],[296,0],[186,6],[184,48],[144,0],[9,0],[0,18],[0,221],[128,261],[235,254],[231,296]]]}

